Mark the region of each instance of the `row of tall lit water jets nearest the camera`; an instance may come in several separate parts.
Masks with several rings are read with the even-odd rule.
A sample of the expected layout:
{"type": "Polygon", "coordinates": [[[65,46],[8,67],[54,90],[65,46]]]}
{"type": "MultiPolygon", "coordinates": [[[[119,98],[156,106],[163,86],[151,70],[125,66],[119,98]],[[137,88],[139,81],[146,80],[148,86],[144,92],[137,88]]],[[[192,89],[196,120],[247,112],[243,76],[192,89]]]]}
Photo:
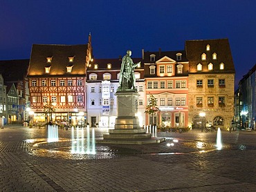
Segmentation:
{"type": "Polygon", "coordinates": [[[87,131],[87,149],[84,150],[84,128],[79,131],[79,127],[77,126],[76,131],[72,126],[71,128],[71,153],[79,153],[79,154],[95,154],[95,130],[92,129],[92,135],[90,135],[89,126],[86,127],[87,131]]]}

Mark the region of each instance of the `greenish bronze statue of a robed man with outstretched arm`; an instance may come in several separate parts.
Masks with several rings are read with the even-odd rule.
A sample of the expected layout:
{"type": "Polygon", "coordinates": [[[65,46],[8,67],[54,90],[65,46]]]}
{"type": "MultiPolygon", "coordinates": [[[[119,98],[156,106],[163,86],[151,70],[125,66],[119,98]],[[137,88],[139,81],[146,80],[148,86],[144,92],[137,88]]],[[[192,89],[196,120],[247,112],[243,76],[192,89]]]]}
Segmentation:
{"type": "Polygon", "coordinates": [[[136,90],[134,68],[136,68],[140,62],[134,64],[134,61],[131,59],[131,50],[127,50],[126,53],[127,54],[122,57],[118,90],[136,90]]]}

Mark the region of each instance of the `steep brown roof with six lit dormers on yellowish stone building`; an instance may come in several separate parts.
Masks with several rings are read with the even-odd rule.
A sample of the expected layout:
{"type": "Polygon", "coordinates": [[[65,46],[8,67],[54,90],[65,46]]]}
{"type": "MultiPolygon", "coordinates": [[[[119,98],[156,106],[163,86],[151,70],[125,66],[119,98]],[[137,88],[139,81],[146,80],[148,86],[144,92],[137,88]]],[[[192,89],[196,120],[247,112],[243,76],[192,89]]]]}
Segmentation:
{"type": "Polygon", "coordinates": [[[209,40],[189,40],[185,41],[185,50],[188,61],[190,62],[190,73],[198,73],[196,66],[201,64],[202,71],[199,73],[235,73],[235,66],[228,39],[209,39],[209,40]],[[206,50],[206,46],[210,50],[206,50]],[[202,60],[201,55],[206,55],[202,60]],[[217,59],[212,59],[212,54],[217,54],[217,59]],[[213,64],[213,70],[208,70],[208,64],[213,64]],[[224,64],[224,70],[220,70],[219,65],[224,64]]]}

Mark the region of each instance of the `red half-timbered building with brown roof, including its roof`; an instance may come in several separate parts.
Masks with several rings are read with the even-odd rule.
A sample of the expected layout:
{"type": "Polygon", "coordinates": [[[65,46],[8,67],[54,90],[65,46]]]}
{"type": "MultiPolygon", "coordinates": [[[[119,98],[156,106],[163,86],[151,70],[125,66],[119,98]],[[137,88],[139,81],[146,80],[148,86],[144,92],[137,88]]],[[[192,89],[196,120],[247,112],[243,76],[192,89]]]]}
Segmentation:
{"type": "Polygon", "coordinates": [[[27,77],[34,122],[51,119],[44,114],[44,106],[51,102],[53,121],[84,124],[86,68],[91,57],[91,35],[88,44],[33,45],[27,77]]]}

